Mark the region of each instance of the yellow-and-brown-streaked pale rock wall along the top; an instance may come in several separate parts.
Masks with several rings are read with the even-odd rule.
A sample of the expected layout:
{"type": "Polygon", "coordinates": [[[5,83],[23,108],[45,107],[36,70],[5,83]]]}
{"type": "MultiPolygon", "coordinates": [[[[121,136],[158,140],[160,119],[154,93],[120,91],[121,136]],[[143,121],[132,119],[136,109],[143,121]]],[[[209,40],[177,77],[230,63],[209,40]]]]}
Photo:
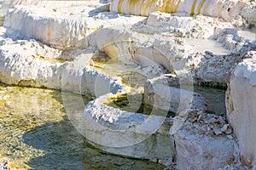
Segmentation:
{"type": "Polygon", "coordinates": [[[232,20],[240,13],[241,6],[238,0],[113,0],[110,10],[143,16],[148,16],[154,11],[205,14],[232,20]]]}

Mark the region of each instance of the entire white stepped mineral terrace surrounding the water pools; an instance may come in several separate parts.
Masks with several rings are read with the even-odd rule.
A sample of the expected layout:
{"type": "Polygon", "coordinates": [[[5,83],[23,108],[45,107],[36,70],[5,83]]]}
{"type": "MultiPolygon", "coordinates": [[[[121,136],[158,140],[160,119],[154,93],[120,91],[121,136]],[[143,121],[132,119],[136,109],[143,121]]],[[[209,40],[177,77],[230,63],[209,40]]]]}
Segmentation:
{"type": "Polygon", "coordinates": [[[90,94],[78,128],[101,150],[177,169],[255,168],[255,11],[247,0],[13,1],[0,81],[90,94]],[[95,65],[110,60],[136,65],[144,86],[95,65]],[[198,84],[227,88],[227,113],[208,111],[198,84]],[[153,115],[109,105],[137,94],[153,115]]]}

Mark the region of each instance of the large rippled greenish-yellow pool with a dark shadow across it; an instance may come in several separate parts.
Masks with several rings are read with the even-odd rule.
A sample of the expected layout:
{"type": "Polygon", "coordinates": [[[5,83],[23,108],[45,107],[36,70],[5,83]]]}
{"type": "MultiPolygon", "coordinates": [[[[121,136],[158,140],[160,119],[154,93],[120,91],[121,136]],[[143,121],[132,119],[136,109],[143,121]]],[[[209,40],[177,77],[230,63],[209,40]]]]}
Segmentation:
{"type": "MultiPolygon", "coordinates": [[[[78,94],[65,93],[72,98],[78,94]]],[[[68,97],[68,96],[66,96],[68,97]]],[[[83,97],[84,104],[90,99],[83,97]]],[[[76,106],[73,102],[73,107],[76,106]]],[[[69,121],[61,92],[0,84],[0,154],[19,169],[163,169],[106,154],[84,142],[69,121]]]]}

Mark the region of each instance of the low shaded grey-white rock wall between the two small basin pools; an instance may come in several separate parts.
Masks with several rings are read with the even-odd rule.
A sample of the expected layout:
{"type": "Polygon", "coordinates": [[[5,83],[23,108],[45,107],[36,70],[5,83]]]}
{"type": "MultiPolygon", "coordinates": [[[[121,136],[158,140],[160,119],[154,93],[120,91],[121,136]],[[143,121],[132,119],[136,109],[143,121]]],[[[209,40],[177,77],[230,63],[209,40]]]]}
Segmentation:
{"type": "Polygon", "coordinates": [[[207,111],[207,103],[201,94],[185,90],[183,87],[170,87],[170,79],[156,77],[145,82],[144,101],[166,111],[179,113],[189,109],[207,111]]]}

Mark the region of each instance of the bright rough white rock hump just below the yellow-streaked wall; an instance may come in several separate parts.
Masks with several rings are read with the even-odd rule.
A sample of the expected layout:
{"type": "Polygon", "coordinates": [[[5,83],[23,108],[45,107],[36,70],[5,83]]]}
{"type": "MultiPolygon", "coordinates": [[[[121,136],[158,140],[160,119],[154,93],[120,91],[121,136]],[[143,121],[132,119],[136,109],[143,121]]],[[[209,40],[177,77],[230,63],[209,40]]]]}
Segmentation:
{"type": "Polygon", "coordinates": [[[207,38],[214,33],[214,28],[218,27],[218,19],[205,17],[202,15],[192,17],[173,16],[172,14],[154,12],[149,14],[147,22],[137,25],[137,31],[144,31],[148,34],[176,35],[177,37],[207,38]],[[202,22],[202,20],[204,20],[202,22]],[[206,31],[203,31],[207,29],[206,31]]]}

